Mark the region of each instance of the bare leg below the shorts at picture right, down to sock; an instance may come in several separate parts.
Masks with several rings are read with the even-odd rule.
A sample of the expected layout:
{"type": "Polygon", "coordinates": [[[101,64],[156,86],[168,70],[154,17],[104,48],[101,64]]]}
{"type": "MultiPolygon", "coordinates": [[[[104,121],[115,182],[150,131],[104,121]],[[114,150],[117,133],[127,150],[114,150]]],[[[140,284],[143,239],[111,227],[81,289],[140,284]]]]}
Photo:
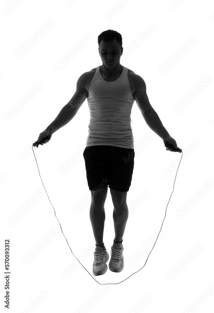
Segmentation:
{"type": "Polygon", "coordinates": [[[115,239],[121,241],[126,228],[126,222],[128,220],[128,206],[126,203],[127,192],[116,191],[110,188],[112,202],[114,206],[113,221],[115,239]]]}

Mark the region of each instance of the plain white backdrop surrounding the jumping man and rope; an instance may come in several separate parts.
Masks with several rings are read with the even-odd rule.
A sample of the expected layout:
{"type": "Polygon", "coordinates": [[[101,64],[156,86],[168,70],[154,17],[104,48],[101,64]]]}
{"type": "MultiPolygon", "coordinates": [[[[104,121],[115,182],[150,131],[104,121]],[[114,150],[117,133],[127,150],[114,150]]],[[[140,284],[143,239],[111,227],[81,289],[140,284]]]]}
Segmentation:
{"type": "MultiPolygon", "coordinates": [[[[213,312],[212,1],[14,3],[1,1],[0,22],[1,307],[6,295],[4,240],[10,239],[10,312],[213,312]],[[152,31],[151,24],[155,25],[152,31]],[[36,37],[39,29],[42,34],[36,37]],[[32,151],[39,133],[73,96],[79,76],[102,65],[97,37],[107,29],[121,33],[120,63],[144,79],[151,105],[183,151],[178,169],[181,154],[166,151],[134,102],[135,163],[127,195],[129,217],[121,273],[108,269],[105,275],[92,274],[91,192],[82,155],[90,117],[87,100],[48,144],[33,149],[72,252],[100,284],[119,283],[144,266],[178,169],[166,218],[146,265],[117,285],[98,284],[71,253],[32,151]],[[146,36],[139,39],[142,33],[146,36]],[[85,41],[87,35],[91,38],[85,41]],[[35,42],[19,54],[32,37],[35,42]],[[188,44],[191,38],[194,42],[188,44]],[[75,55],[57,69],[71,50],[75,55]],[[170,63],[176,53],[180,57],[170,63]],[[27,101],[25,95],[36,84],[41,88],[27,101]],[[185,102],[191,93],[192,99],[185,102]],[[19,105],[23,100],[25,104],[19,105]],[[176,111],[179,103],[183,106],[176,111]],[[60,172],[66,164],[67,169],[60,172]],[[143,192],[149,194],[144,199],[143,192]],[[34,202],[29,202],[31,197],[34,202]]],[[[110,254],[114,239],[110,191],[105,211],[104,243],[110,254]]]]}

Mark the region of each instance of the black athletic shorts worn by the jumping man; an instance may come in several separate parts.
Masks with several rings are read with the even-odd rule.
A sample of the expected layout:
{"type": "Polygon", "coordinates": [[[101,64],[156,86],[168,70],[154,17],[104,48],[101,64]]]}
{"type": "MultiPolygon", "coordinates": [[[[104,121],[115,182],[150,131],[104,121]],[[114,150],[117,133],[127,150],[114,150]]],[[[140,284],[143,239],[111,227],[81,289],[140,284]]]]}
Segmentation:
{"type": "Polygon", "coordinates": [[[134,149],[90,146],[83,151],[89,190],[102,187],[126,192],[132,181],[134,149]]]}

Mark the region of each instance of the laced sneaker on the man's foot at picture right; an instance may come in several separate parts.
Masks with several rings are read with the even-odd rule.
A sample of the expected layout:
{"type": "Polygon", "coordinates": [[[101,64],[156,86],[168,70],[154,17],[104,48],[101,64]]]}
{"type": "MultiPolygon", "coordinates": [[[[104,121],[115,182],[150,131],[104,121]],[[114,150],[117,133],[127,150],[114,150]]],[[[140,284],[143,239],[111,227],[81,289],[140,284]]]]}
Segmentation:
{"type": "Polygon", "coordinates": [[[110,271],[119,273],[124,268],[123,244],[113,244],[111,247],[111,260],[108,264],[110,271]]]}

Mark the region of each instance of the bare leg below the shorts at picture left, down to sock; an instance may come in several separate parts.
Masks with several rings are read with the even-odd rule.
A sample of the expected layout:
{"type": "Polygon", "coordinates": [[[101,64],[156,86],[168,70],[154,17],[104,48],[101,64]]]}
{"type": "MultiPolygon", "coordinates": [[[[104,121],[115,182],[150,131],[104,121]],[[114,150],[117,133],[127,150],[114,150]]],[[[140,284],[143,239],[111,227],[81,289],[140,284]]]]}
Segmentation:
{"type": "Polygon", "coordinates": [[[103,243],[103,231],[106,218],[104,204],[107,192],[108,186],[103,187],[98,192],[91,190],[90,220],[96,244],[103,243]]]}

